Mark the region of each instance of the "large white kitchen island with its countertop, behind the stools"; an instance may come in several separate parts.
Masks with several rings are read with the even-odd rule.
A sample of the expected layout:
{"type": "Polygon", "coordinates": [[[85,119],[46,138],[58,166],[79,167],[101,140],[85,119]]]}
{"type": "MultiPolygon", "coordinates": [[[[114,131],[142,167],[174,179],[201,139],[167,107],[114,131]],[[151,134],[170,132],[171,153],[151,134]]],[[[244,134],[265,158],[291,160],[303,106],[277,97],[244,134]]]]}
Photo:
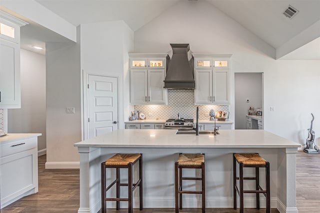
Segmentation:
{"type": "MultiPolygon", "coordinates": [[[[264,130],[220,130],[219,135],[176,135],[176,130],[121,129],[74,144],[80,154],[80,208],[78,213],[100,209],[100,163],[115,153],[143,154],[143,204],[145,208],[174,207],[174,162],[178,153],[204,153],[206,207],[232,208],[232,153],[259,153],[270,162],[271,208],[297,213],[295,202],[295,154],[299,144],[264,130]]],[[[198,171],[188,171],[198,175],[198,171]]],[[[253,170],[246,170],[252,174],[253,170]]],[[[108,173],[108,181],[115,176],[108,173]]],[[[122,177],[125,180],[123,171],[122,177]]],[[[260,177],[264,176],[261,170],[260,177]]],[[[264,181],[260,179],[261,186],[264,181]]],[[[253,183],[245,183],[253,187],[253,183]]],[[[186,188],[194,189],[190,183],[186,188]]],[[[126,189],[122,189],[125,195],[126,189]]],[[[138,192],[134,192],[137,207],[138,192]]],[[[244,208],[254,208],[254,195],[244,197],[244,208]]],[[[261,196],[263,197],[263,196],[261,196]]],[[[263,197],[264,198],[264,197],[263,197]]],[[[261,207],[265,202],[261,199],[261,207]]],[[[115,203],[108,203],[114,207],[115,203]]],[[[121,207],[126,207],[126,202],[121,207]]],[[[185,195],[185,208],[200,208],[197,195],[185,195]]]]}

